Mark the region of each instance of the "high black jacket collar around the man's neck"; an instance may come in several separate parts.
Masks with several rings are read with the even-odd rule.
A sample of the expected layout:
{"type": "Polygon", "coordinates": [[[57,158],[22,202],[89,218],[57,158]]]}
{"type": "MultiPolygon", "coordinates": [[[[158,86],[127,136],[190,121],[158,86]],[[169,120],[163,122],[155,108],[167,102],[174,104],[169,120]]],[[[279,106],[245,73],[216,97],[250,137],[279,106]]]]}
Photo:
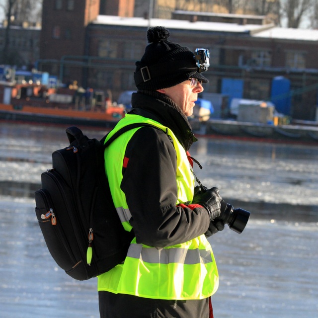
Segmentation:
{"type": "Polygon", "coordinates": [[[132,95],[132,107],[130,114],[156,120],[171,129],[186,151],[197,141],[181,108],[166,95],[140,90],[132,95]]]}

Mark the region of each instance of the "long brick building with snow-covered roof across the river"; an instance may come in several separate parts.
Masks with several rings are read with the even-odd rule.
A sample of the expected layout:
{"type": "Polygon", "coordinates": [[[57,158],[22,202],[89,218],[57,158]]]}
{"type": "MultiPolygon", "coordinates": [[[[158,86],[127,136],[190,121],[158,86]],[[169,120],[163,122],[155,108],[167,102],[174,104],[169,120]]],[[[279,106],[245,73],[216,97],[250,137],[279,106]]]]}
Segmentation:
{"type": "Polygon", "coordinates": [[[210,83],[203,97],[222,93],[230,98],[270,100],[275,79],[283,77],[290,88],[288,96],[279,98],[290,99],[288,112],[297,119],[314,119],[318,30],[248,24],[248,20],[149,21],[121,11],[125,1],[113,1],[112,12],[118,14],[98,15],[98,0],[78,0],[76,6],[74,0],[44,0],[39,70],[58,75],[64,83],[77,80],[83,87],[110,91],[117,100],[122,91],[135,89],[135,61],[147,45],[147,28],[164,25],[170,29],[172,41],[192,50],[210,49],[211,67],[206,73],[210,83]]]}

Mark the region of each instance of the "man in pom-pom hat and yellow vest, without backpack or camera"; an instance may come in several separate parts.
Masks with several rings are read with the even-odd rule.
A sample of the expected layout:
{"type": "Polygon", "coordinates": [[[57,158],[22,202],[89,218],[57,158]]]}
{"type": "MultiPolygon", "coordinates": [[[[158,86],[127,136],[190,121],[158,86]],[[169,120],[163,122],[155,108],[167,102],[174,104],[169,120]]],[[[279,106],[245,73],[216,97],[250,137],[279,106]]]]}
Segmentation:
{"type": "Polygon", "coordinates": [[[148,30],[133,108],[109,134],[130,123],[152,125],[126,132],[105,151],[115,207],[135,239],[125,262],[98,277],[102,318],[213,317],[218,271],[206,237],[224,228],[213,222],[222,198],[216,188],[194,197],[188,150],[196,138],[187,121],[208,80],[193,52],[169,35],[164,27],[148,30]]]}

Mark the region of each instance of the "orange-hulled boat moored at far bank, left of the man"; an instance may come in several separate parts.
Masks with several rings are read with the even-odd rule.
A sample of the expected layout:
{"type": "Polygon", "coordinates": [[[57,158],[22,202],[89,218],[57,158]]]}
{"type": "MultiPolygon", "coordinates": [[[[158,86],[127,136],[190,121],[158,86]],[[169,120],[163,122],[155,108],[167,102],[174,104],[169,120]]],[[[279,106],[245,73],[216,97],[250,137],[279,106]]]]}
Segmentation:
{"type": "Polygon", "coordinates": [[[112,128],[124,116],[101,91],[49,89],[37,84],[0,85],[0,119],[112,128]],[[2,95],[2,96],[1,96],[2,95]]]}

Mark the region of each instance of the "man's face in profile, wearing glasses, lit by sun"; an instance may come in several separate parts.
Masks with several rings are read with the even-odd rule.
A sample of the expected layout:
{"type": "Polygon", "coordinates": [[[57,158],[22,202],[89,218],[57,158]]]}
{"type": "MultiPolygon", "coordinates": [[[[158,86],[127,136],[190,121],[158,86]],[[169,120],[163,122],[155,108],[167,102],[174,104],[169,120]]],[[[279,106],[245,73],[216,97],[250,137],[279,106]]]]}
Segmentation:
{"type": "Polygon", "coordinates": [[[158,91],[170,97],[181,108],[185,116],[191,116],[194,102],[198,99],[198,93],[203,91],[203,87],[199,81],[196,86],[192,86],[190,80],[185,80],[180,84],[158,89],[158,91]]]}

